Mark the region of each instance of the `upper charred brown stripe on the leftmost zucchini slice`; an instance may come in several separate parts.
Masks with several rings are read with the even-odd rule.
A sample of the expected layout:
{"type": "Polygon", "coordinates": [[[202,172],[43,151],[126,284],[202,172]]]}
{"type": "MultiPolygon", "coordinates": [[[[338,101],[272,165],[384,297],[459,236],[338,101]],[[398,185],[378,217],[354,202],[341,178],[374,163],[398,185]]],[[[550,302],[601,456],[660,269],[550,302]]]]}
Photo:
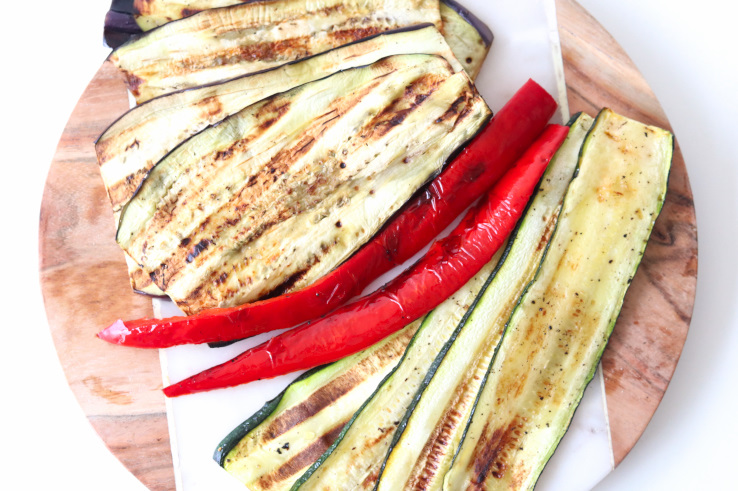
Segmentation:
{"type": "Polygon", "coordinates": [[[361,360],[350,371],[321,387],[297,406],[280,414],[264,430],[262,442],[266,443],[268,440],[277,438],[329,405],[337,403],[341,397],[352,391],[363,380],[379,372],[389,363],[396,362],[414,334],[414,330],[403,332],[395,342],[377,351],[374,356],[361,360]]]}

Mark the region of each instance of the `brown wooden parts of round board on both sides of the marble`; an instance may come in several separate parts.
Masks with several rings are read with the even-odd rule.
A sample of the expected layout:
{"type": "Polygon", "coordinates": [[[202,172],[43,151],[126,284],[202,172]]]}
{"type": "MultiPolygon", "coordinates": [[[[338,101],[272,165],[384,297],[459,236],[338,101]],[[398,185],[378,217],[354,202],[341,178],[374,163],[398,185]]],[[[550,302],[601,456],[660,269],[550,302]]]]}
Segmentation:
{"type": "MultiPolygon", "coordinates": [[[[615,40],[574,0],[556,1],[570,112],[607,106],[669,128],[656,97],[615,40]]],[[[79,100],[46,182],[39,231],[46,313],[69,385],[103,441],[151,490],[173,490],[174,471],[158,354],[94,337],[118,317],[153,315],[129,286],[93,142],[128,108],[105,63],[79,100]]],[[[663,211],[605,351],[616,465],[656,411],[684,346],[697,282],[697,226],[678,145],[663,211]]]]}

